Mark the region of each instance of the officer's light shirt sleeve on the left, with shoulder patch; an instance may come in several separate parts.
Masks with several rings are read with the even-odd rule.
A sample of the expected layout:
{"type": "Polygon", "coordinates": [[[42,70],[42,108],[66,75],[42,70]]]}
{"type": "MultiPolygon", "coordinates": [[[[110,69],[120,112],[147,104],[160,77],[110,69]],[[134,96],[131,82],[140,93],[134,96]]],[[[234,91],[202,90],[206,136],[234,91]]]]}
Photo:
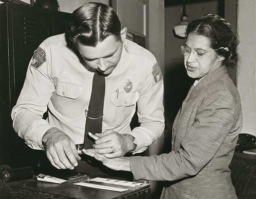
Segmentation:
{"type": "Polygon", "coordinates": [[[55,90],[50,78],[50,51],[44,43],[34,52],[26,72],[26,79],[17,104],[12,109],[13,127],[25,143],[33,149],[43,149],[42,136],[51,128],[47,120],[42,119],[47,104],[55,90]]]}

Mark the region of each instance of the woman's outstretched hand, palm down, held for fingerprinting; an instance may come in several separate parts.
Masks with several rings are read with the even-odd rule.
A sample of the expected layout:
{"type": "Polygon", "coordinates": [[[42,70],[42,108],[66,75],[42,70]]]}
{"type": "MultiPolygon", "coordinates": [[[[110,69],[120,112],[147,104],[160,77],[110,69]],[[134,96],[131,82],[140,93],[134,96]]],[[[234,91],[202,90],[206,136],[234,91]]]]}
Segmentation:
{"type": "Polygon", "coordinates": [[[96,160],[102,162],[108,168],[116,171],[131,171],[130,168],[130,157],[119,157],[119,158],[106,158],[102,154],[95,152],[95,149],[83,149],[82,152],[88,156],[94,157],[96,160]]]}

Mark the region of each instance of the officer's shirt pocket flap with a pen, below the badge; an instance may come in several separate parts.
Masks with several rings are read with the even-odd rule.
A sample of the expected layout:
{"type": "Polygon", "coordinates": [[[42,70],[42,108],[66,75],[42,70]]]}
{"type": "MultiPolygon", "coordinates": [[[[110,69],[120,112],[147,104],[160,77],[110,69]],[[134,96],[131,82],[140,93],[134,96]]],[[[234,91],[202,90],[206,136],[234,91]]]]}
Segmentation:
{"type": "Polygon", "coordinates": [[[111,93],[110,99],[115,106],[131,106],[136,104],[137,100],[139,99],[139,92],[113,92],[111,93]]]}

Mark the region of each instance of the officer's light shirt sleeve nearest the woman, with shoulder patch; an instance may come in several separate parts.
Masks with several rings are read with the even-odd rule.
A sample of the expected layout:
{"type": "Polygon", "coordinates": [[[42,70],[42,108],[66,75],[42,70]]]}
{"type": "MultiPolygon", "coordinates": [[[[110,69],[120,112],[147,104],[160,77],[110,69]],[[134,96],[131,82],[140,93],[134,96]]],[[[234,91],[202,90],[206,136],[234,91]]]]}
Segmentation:
{"type": "Polygon", "coordinates": [[[164,130],[163,75],[155,58],[145,74],[145,82],[139,94],[137,114],[140,126],[131,131],[137,140],[134,154],[145,151],[160,138],[164,130]]]}

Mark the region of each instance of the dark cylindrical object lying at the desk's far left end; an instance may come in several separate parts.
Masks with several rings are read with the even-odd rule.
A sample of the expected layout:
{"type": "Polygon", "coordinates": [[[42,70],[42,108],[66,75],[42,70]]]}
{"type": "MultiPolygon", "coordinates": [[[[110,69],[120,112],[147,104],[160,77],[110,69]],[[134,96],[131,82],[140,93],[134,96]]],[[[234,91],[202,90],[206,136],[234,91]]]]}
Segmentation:
{"type": "Polygon", "coordinates": [[[10,168],[8,165],[1,165],[0,174],[2,181],[13,182],[31,179],[34,173],[32,167],[10,168]]]}

